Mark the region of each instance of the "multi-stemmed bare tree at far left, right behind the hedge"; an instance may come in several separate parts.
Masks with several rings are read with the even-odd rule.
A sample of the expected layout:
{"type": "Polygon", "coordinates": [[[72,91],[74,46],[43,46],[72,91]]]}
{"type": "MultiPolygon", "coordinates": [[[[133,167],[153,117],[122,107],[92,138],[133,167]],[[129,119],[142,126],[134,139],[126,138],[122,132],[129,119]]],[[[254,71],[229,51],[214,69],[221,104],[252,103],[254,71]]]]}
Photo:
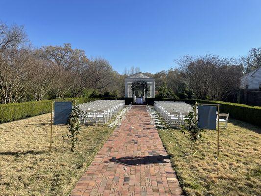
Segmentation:
{"type": "Polygon", "coordinates": [[[0,92],[2,103],[15,103],[30,88],[34,77],[31,52],[6,49],[0,53],[0,92]]]}

